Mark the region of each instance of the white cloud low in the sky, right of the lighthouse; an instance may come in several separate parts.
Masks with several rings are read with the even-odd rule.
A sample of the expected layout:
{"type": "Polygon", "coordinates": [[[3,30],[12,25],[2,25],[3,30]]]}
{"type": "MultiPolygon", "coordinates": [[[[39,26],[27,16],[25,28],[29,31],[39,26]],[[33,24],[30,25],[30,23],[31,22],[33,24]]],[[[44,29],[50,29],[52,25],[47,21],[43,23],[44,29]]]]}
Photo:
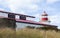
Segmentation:
{"type": "Polygon", "coordinates": [[[49,16],[49,20],[51,21],[51,24],[57,25],[58,28],[60,28],[60,14],[49,16]]]}

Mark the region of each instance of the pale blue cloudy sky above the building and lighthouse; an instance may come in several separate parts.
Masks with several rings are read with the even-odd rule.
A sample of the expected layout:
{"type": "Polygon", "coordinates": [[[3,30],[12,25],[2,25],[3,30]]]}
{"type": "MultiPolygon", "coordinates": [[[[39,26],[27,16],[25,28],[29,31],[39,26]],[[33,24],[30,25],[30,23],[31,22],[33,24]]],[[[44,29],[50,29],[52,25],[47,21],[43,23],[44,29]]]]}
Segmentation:
{"type": "Polygon", "coordinates": [[[60,0],[0,0],[0,10],[35,16],[37,22],[46,11],[51,24],[60,28],[60,0]]]}

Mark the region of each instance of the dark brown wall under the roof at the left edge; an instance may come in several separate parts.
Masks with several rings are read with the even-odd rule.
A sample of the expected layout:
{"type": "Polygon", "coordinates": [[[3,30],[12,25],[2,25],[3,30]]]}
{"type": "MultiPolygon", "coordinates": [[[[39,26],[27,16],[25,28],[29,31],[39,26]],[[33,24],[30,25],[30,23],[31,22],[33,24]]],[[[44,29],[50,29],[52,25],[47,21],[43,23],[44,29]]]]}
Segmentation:
{"type": "Polygon", "coordinates": [[[6,18],[0,18],[0,28],[16,28],[16,21],[6,18]]]}

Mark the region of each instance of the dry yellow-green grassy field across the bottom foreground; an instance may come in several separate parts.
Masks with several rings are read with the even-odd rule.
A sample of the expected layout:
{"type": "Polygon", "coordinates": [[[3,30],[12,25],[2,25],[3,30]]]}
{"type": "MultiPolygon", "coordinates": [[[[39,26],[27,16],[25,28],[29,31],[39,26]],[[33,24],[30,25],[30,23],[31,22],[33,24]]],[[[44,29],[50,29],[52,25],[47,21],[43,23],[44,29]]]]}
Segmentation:
{"type": "Polygon", "coordinates": [[[0,29],[0,38],[60,38],[60,32],[36,29],[0,29]]]}

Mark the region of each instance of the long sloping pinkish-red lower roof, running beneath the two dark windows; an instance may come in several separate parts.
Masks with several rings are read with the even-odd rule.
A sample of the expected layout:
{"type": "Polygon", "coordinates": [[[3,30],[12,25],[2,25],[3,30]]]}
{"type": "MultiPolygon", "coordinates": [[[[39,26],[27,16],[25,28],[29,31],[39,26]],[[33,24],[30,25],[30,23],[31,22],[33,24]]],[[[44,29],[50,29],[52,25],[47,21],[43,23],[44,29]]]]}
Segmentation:
{"type": "MultiPolygon", "coordinates": [[[[7,18],[7,17],[0,16],[0,18],[7,18]]],[[[30,23],[30,24],[43,25],[43,26],[55,26],[55,25],[43,24],[43,23],[40,23],[40,22],[31,21],[31,20],[20,20],[20,19],[13,19],[13,18],[7,18],[7,19],[16,20],[16,22],[24,22],[24,23],[30,23]]],[[[57,26],[55,26],[55,27],[57,27],[57,26]]]]}

